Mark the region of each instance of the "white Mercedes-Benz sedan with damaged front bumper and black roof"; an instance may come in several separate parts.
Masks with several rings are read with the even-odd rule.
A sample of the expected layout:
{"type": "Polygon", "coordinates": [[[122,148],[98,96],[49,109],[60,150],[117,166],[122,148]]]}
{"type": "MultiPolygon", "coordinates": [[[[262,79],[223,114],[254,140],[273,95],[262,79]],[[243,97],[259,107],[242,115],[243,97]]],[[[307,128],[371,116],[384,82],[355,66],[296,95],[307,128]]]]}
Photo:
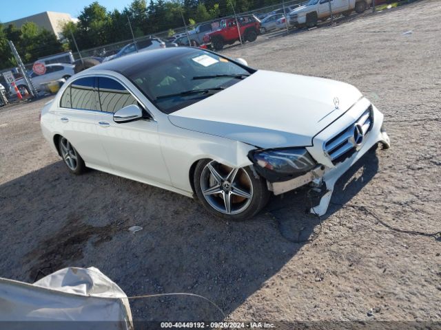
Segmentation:
{"type": "Polygon", "coordinates": [[[197,197],[246,219],[309,184],[325,214],[334,184],[369,148],[383,115],[346,83],[256,70],[189,47],[141,52],[76,74],[41,111],[74,174],[85,168],[197,197]]]}

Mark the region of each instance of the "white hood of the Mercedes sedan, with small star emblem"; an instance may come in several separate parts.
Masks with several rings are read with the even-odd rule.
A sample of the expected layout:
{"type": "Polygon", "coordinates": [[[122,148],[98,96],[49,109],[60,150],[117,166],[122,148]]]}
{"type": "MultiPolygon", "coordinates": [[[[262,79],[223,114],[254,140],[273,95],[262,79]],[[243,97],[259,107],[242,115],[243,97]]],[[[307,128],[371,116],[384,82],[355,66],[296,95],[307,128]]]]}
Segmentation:
{"type": "Polygon", "coordinates": [[[311,146],[361,97],[356,87],[335,80],[259,70],[169,119],[183,129],[261,148],[311,146]]]}

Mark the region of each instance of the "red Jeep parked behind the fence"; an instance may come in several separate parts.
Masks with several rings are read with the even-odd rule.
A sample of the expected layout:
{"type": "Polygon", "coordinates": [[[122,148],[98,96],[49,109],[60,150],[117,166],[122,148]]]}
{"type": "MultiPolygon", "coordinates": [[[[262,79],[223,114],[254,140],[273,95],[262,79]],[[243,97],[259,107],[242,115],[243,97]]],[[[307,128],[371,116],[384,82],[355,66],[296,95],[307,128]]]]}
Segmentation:
{"type": "Polygon", "coordinates": [[[239,41],[255,41],[260,32],[260,21],[254,15],[240,16],[220,21],[218,30],[205,34],[204,43],[211,43],[214,50],[221,50],[225,44],[231,45],[239,41]],[[239,28],[237,28],[237,23],[239,28]]]}

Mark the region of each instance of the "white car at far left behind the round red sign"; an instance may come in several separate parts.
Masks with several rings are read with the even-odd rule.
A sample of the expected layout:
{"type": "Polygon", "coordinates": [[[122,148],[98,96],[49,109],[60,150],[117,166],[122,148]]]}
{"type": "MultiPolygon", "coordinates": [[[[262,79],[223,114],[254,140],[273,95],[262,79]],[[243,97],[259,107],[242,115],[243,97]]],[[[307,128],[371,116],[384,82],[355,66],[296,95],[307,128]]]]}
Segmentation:
{"type": "MultiPolygon", "coordinates": [[[[74,67],[72,64],[65,63],[57,63],[57,64],[49,64],[45,65],[46,72],[45,74],[36,74],[35,72],[30,72],[29,76],[32,80],[32,84],[34,85],[37,91],[41,91],[43,89],[42,84],[49,83],[54,80],[59,80],[64,78],[68,80],[71,76],[74,75],[74,67]]],[[[15,84],[20,91],[21,95],[25,95],[29,93],[30,88],[26,84],[26,81],[23,78],[16,80],[15,84]]],[[[10,93],[15,94],[14,88],[10,87],[10,93]]]]}

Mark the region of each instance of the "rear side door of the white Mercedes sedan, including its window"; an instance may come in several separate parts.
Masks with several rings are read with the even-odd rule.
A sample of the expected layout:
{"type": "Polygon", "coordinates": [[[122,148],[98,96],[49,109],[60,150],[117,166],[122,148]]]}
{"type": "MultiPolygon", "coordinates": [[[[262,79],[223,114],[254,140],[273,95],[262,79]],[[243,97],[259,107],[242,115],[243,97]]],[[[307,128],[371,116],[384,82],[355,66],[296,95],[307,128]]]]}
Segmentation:
{"type": "Polygon", "coordinates": [[[96,133],[97,111],[95,77],[84,77],[63,91],[54,114],[59,133],[76,148],[86,165],[106,169],[110,163],[96,133]]]}

